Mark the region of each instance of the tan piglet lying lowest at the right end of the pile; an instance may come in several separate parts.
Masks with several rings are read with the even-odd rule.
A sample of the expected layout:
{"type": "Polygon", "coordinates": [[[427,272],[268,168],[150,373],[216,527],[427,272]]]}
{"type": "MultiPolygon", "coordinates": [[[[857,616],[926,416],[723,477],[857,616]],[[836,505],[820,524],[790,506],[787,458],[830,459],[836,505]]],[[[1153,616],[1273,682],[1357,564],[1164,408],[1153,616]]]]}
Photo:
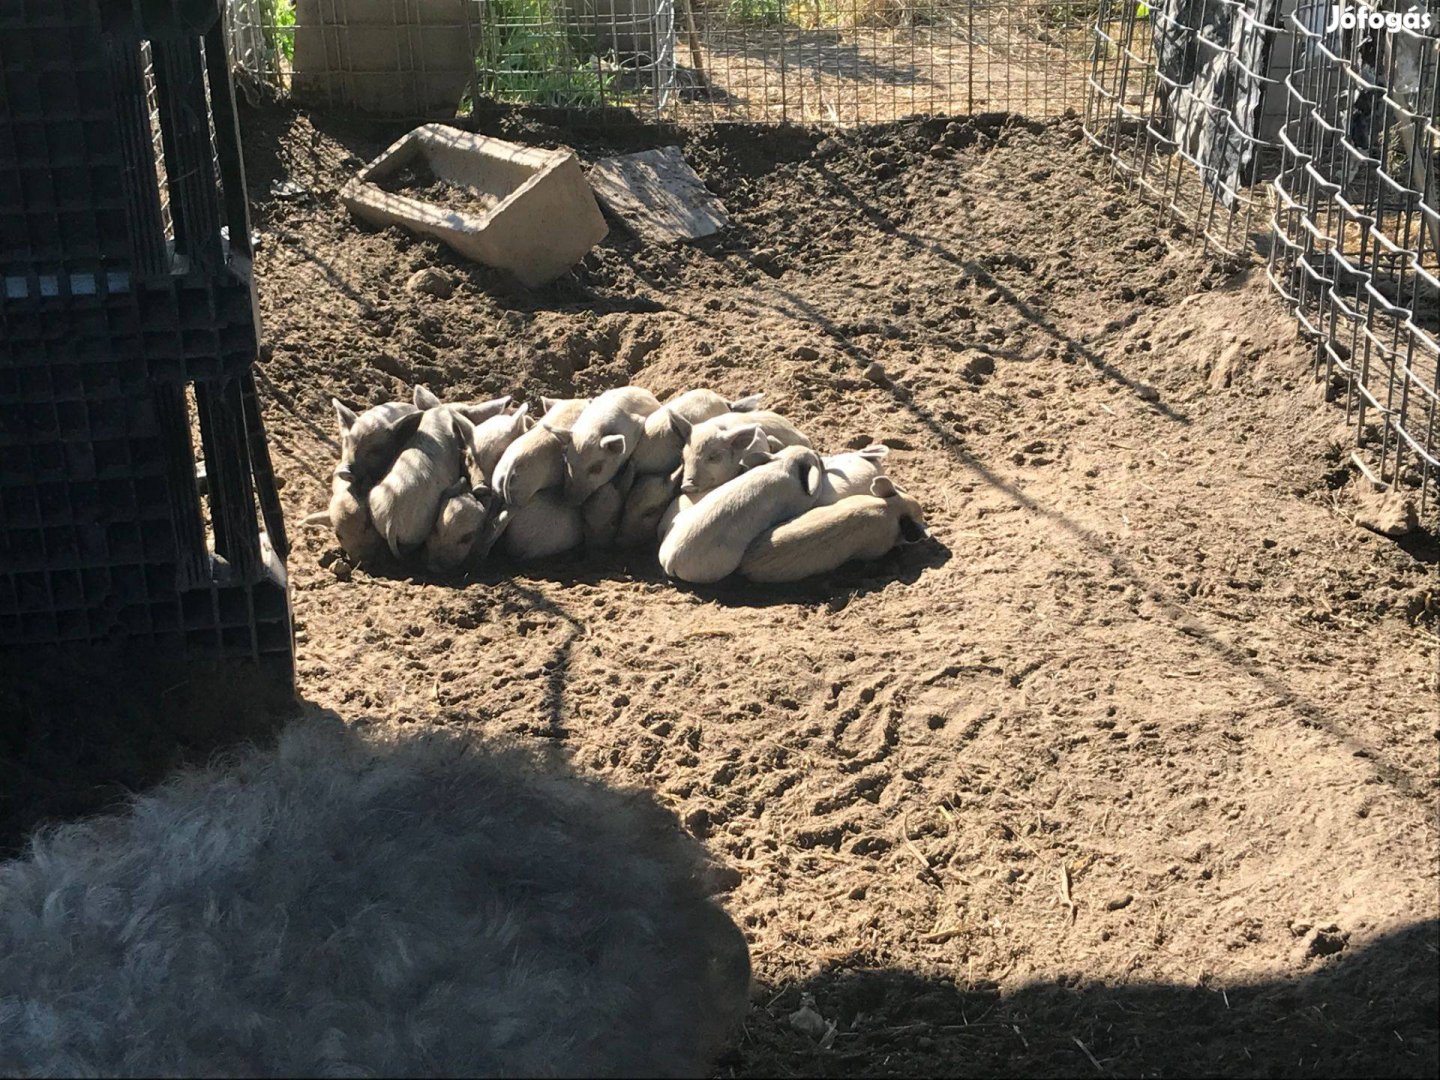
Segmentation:
{"type": "Polygon", "coordinates": [[[878,559],[897,543],[919,543],[929,534],[920,504],[888,477],[876,477],[868,495],[808,510],[760,533],[740,573],[752,582],[798,582],[851,559],[878,559]]]}

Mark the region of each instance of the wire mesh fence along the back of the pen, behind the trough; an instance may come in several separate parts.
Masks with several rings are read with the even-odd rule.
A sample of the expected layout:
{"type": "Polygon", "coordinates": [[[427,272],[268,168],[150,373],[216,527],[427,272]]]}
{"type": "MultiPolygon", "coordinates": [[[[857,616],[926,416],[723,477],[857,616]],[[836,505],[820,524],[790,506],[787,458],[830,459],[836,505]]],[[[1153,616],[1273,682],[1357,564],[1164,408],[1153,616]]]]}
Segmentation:
{"type": "Polygon", "coordinates": [[[229,0],[255,96],[802,124],[1077,108],[1099,0],[229,0]]]}

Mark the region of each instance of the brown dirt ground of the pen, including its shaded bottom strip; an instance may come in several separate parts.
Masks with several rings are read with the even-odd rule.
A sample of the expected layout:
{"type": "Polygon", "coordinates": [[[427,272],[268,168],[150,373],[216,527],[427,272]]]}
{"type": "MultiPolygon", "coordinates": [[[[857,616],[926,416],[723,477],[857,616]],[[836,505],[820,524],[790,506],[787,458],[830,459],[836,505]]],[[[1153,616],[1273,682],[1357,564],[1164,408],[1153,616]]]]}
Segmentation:
{"type": "Polygon", "coordinates": [[[397,130],[242,124],[304,698],[655,791],[752,946],[719,1076],[1434,1074],[1434,537],[1352,524],[1344,418],[1263,274],[1158,226],[1074,122],[492,118],[681,141],[734,216],[615,228],[534,292],[350,220],[397,130]],[[408,292],[425,266],[454,295],[408,292]],[[769,590],[654,553],[351,570],[298,526],[330,397],[413,382],[763,390],[824,451],[888,444],[935,541],[769,590]]]}

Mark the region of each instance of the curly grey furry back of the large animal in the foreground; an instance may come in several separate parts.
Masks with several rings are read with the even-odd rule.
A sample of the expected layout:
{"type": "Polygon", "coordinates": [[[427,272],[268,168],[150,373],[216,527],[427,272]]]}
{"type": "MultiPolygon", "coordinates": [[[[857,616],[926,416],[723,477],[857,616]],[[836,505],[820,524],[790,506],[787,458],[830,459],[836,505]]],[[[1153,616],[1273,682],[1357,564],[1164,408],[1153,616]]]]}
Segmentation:
{"type": "Polygon", "coordinates": [[[0,864],[0,1074],[704,1076],[703,870],[648,796],[292,727],[0,864]]]}

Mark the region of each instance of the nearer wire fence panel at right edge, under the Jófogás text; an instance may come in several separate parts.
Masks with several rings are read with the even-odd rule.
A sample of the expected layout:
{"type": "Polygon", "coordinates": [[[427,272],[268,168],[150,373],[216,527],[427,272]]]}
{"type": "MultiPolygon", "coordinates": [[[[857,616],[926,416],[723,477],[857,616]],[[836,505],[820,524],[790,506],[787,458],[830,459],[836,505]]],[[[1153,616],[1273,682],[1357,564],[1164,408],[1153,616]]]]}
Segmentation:
{"type": "Polygon", "coordinates": [[[1440,484],[1440,27],[1407,27],[1400,9],[1345,27],[1333,10],[1300,0],[1290,16],[1269,272],[1344,395],[1355,464],[1426,508],[1440,484]]]}

